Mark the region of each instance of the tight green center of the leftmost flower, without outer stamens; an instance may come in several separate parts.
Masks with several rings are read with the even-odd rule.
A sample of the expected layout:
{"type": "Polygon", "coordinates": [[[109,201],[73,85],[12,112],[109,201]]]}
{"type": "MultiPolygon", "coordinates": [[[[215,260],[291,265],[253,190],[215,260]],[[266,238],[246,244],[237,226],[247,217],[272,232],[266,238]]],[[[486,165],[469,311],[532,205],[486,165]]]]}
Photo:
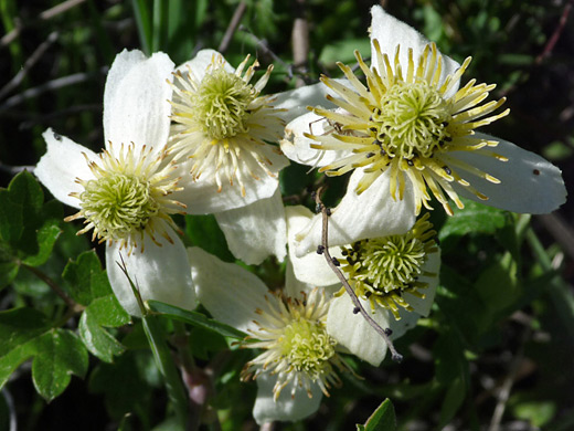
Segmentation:
{"type": "Polygon", "coordinates": [[[86,220],[97,227],[102,236],[111,240],[145,229],[160,209],[150,196],[149,182],[125,174],[87,181],[79,200],[86,220]]]}

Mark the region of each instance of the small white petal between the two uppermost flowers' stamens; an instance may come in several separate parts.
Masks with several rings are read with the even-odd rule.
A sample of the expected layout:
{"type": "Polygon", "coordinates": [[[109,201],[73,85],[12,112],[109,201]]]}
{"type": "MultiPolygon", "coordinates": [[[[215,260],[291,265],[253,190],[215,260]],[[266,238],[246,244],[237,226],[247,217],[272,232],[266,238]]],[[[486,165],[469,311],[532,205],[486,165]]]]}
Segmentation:
{"type": "MultiPolygon", "coordinates": [[[[341,82],[343,80],[336,81],[341,82]]],[[[332,91],[323,83],[305,85],[300,88],[276,94],[273,107],[285,109],[279,116],[285,123],[289,123],[298,116],[308,114],[309,106],[322,105],[329,109],[334,108],[336,105],[326,99],[329,93],[332,93],[332,91]]]]}

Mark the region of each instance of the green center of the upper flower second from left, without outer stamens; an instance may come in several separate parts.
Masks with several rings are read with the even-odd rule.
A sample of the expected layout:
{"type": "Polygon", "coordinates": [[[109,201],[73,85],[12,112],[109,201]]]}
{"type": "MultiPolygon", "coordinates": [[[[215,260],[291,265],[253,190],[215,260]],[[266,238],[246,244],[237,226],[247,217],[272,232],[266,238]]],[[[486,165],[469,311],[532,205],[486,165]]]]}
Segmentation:
{"type": "Polygon", "coordinates": [[[253,85],[240,76],[215,69],[205,74],[193,96],[195,116],[212,139],[224,139],[247,133],[247,106],[255,99],[253,85]]]}

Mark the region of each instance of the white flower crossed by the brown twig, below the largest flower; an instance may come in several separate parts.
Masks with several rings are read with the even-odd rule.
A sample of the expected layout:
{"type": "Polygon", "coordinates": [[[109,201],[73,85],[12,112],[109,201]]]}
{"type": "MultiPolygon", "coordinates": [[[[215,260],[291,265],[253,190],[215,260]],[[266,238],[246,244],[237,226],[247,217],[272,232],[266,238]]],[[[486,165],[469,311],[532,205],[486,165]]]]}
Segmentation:
{"type": "MultiPolygon", "coordinates": [[[[337,275],[316,252],[297,256],[297,232],[313,218],[301,206],[287,207],[287,238],[294,276],[301,283],[336,290],[337,275]]],[[[428,316],[438,285],[440,250],[433,241],[436,234],[422,217],[404,234],[389,234],[355,241],[329,249],[361,301],[363,308],[382,327],[392,330],[392,339],[416,325],[419,316],[428,316]]],[[[386,344],[360,314],[344,287],[336,294],[327,317],[327,332],[350,353],[379,366],[386,355],[386,344]]]]}

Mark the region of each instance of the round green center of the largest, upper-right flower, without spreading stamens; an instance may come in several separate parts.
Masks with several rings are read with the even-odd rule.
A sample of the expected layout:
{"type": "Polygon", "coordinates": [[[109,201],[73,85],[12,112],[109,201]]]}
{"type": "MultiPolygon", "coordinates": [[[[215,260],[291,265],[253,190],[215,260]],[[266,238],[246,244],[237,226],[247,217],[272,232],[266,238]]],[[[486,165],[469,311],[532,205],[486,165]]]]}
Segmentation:
{"type": "Polygon", "coordinates": [[[369,129],[390,157],[432,157],[445,140],[451,108],[426,82],[397,82],[373,109],[369,129]]]}

